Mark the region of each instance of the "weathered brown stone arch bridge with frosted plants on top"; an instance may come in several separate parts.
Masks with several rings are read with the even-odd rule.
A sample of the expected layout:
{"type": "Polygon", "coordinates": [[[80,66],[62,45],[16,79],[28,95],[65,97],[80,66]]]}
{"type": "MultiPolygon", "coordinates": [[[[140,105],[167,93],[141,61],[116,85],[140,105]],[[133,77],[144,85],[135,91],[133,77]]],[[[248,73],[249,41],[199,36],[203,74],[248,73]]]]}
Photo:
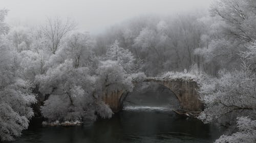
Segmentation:
{"type": "MultiPolygon", "coordinates": [[[[180,102],[180,106],[188,111],[200,111],[203,108],[202,102],[199,100],[198,83],[193,79],[183,78],[145,78],[141,81],[133,82],[136,86],[139,82],[156,82],[164,85],[171,90],[180,102]]],[[[122,109],[122,103],[127,92],[115,91],[111,94],[103,96],[103,101],[109,104],[114,112],[122,109]]]]}

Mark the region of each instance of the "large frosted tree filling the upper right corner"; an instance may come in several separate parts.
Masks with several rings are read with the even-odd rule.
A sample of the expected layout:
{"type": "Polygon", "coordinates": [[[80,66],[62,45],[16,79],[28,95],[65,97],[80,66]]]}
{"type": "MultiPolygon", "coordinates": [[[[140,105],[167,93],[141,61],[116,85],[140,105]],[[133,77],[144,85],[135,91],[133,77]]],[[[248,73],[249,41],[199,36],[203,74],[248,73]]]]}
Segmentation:
{"type": "Polygon", "coordinates": [[[256,39],[255,5],[251,0],[216,0],[210,8],[214,17],[201,19],[206,32],[201,38],[203,49],[196,53],[216,67],[215,75],[221,68],[238,69],[239,53],[256,39]]]}

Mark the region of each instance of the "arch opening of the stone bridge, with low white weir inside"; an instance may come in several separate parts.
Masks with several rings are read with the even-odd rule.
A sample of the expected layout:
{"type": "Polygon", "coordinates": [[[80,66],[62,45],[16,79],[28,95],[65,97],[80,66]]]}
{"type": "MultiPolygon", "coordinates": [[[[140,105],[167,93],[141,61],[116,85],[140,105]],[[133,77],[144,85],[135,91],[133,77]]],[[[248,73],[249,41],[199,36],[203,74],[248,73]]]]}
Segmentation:
{"type": "Polygon", "coordinates": [[[139,82],[131,93],[121,98],[124,110],[172,110],[180,108],[173,91],[157,82],[139,82]]]}

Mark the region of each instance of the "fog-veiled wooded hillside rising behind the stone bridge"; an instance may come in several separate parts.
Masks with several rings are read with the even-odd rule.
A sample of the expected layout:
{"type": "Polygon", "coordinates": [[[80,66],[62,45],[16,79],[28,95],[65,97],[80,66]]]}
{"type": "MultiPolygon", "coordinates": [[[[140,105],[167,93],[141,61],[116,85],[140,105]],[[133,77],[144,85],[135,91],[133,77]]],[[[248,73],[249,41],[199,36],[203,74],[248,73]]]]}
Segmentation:
{"type": "Polygon", "coordinates": [[[109,49],[106,45],[118,40],[119,47],[132,52],[135,63],[143,61],[142,64],[138,64],[141,65],[140,71],[150,76],[157,76],[170,70],[183,71],[194,62],[201,66],[198,55],[195,56],[193,50],[201,47],[199,43],[204,28],[198,25],[197,19],[204,15],[202,13],[133,18],[113,26],[100,35],[96,39],[95,49],[104,55],[109,49]]]}

